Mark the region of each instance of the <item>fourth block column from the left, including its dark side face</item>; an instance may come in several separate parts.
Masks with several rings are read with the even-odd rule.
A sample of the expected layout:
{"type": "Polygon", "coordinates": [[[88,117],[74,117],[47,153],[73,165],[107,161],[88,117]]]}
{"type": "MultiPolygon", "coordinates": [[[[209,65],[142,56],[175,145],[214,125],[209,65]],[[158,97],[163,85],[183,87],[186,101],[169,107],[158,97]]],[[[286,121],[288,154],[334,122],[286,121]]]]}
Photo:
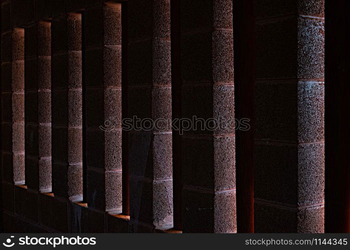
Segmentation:
{"type": "Polygon", "coordinates": [[[86,164],[89,207],[122,210],[121,4],[87,8],[86,164]]]}

